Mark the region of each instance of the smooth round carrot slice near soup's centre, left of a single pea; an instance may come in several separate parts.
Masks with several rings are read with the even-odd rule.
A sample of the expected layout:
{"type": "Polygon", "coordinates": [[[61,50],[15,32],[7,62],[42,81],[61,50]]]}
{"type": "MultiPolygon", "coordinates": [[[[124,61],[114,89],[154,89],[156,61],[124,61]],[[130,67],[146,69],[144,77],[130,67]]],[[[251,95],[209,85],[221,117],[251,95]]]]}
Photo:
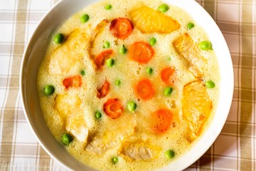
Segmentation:
{"type": "Polygon", "coordinates": [[[149,79],[139,81],[136,86],[136,92],[139,98],[143,100],[149,100],[154,96],[154,86],[149,79]]]}

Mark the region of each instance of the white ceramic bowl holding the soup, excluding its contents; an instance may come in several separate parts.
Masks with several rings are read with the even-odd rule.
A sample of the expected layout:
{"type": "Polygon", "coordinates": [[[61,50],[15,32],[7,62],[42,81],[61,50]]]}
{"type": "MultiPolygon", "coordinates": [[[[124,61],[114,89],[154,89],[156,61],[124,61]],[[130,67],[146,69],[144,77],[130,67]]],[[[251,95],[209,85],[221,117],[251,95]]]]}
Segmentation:
{"type": "MultiPolygon", "coordinates": [[[[21,66],[20,88],[23,109],[33,133],[38,142],[48,154],[61,162],[70,170],[93,170],[75,160],[65,148],[53,137],[43,119],[36,89],[38,66],[45,56],[46,48],[52,33],[63,24],[72,14],[83,7],[99,0],[62,0],[56,4],[38,24],[36,31],[26,46],[21,66]]],[[[213,44],[220,66],[220,100],[218,108],[210,123],[210,127],[196,145],[186,154],[159,170],[183,170],[196,162],[201,155],[213,144],[220,134],[230,110],[233,98],[233,65],[228,46],[223,34],[210,15],[194,0],[166,0],[168,4],[179,6],[190,14],[196,23],[202,26],[213,44]]]]}

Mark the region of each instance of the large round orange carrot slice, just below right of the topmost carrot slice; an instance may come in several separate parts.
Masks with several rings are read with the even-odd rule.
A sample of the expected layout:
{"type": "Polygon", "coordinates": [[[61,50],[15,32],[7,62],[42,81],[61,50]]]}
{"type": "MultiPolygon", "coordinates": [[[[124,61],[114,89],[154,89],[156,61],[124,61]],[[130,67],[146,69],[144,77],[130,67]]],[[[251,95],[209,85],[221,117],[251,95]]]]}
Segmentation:
{"type": "Polygon", "coordinates": [[[129,58],[138,63],[148,63],[154,56],[154,49],[142,41],[137,41],[129,47],[129,58]]]}

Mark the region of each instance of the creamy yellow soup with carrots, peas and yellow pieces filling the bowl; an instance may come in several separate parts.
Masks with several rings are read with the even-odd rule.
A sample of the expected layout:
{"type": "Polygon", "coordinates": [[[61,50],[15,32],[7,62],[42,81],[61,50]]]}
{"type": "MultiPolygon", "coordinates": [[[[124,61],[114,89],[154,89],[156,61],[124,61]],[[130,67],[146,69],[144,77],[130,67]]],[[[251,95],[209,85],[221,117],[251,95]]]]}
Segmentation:
{"type": "Polygon", "coordinates": [[[48,128],[97,170],[164,167],[200,139],[215,113],[214,47],[176,6],[92,4],[53,33],[46,51],[37,85],[48,128]]]}

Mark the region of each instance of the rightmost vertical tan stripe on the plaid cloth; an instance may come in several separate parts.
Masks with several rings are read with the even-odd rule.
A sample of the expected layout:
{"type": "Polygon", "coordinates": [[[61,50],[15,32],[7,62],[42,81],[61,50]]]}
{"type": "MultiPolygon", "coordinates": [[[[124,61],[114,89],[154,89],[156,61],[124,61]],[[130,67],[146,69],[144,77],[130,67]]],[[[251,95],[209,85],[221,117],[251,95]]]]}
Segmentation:
{"type": "MultiPolygon", "coordinates": [[[[252,3],[249,0],[242,0],[242,2],[252,3]]],[[[252,36],[252,8],[250,4],[240,5],[240,10],[242,12],[242,17],[240,21],[240,31],[242,35],[240,36],[240,42],[242,43],[242,53],[241,63],[242,68],[240,86],[244,89],[241,90],[241,103],[240,103],[240,125],[239,133],[240,135],[240,157],[245,158],[240,162],[241,170],[252,170],[252,140],[250,135],[252,135],[252,126],[247,125],[247,123],[252,123],[252,53],[253,53],[253,36],[252,36]],[[245,24],[243,24],[245,23],[245,24]],[[248,24],[248,25],[247,25],[248,24]],[[246,33],[246,34],[245,34],[246,33]]],[[[255,79],[255,78],[254,78],[255,79]]]]}

